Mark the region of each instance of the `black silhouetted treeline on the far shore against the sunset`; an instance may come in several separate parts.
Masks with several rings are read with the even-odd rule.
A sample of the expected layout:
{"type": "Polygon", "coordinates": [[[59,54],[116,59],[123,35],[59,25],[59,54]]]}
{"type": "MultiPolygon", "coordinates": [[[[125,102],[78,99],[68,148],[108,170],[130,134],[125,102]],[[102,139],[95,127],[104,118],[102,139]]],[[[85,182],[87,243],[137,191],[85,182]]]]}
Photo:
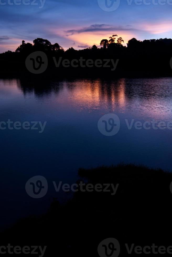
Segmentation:
{"type": "Polygon", "coordinates": [[[51,44],[47,39],[37,38],[31,43],[22,44],[15,52],[7,51],[0,54],[1,76],[3,75],[23,75],[28,74],[25,67],[26,57],[35,51],[45,52],[48,57],[48,68],[44,75],[49,74],[58,76],[171,76],[170,59],[172,57],[172,39],[150,39],[139,41],[132,38],[128,41],[127,46],[123,46],[121,37],[116,39],[117,35],[112,35],[109,40],[102,39],[100,47],[93,45],[83,50],[75,50],[73,47],[64,51],[58,43],[51,44]],[[55,67],[52,57],[62,57],[69,61],[79,60],[80,57],[88,60],[107,60],[119,59],[117,68],[111,71],[108,67],[55,67]],[[60,72],[59,72],[60,71],[60,72]]]}

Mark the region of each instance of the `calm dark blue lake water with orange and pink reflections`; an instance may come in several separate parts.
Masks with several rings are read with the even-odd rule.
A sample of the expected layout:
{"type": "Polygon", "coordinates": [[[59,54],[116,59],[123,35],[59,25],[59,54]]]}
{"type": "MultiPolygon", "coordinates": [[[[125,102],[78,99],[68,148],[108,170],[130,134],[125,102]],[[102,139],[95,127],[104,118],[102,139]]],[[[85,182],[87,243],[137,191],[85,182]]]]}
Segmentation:
{"type": "Polygon", "coordinates": [[[41,121],[46,125],[42,133],[38,125],[38,130],[0,129],[0,225],[46,211],[53,197],[66,201],[70,194],[55,192],[52,181],[75,183],[79,167],[125,162],[171,171],[171,95],[172,78],[1,79],[0,121],[41,121]],[[119,117],[120,129],[114,136],[103,135],[98,129],[105,114],[119,117]],[[164,125],[147,123],[144,127],[150,129],[136,129],[135,122],[152,124],[153,120],[164,125]],[[133,123],[131,129],[127,122],[133,123]],[[36,175],[48,181],[48,192],[40,199],[25,191],[26,181],[36,175]]]}

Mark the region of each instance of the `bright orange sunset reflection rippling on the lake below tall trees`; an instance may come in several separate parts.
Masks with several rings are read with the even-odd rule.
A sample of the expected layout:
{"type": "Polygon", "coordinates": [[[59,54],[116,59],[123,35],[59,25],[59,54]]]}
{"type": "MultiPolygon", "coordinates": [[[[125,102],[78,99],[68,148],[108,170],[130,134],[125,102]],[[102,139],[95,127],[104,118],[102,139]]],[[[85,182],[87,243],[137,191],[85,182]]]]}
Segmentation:
{"type": "Polygon", "coordinates": [[[80,110],[88,108],[91,111],[103,106],[105,109],[110,108],[111,111],[115,111],[117,104],[120,107],[125,106],[125,79],[111,83],[101,79],[79,80],[70,83],[67,98],[67,101],[80,110]]]}

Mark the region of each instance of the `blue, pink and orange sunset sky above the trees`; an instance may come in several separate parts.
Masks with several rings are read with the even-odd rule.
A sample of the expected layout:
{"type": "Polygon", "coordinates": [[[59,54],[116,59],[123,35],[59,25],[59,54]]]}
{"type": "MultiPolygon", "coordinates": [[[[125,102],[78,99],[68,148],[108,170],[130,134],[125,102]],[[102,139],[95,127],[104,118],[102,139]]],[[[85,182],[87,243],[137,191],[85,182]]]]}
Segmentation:
{"type": "Polygon", "coordinates": [[[22,40],[48,39],[67,50],[172,37],[172,0],[0,0],[0,53],[22,40]]]}

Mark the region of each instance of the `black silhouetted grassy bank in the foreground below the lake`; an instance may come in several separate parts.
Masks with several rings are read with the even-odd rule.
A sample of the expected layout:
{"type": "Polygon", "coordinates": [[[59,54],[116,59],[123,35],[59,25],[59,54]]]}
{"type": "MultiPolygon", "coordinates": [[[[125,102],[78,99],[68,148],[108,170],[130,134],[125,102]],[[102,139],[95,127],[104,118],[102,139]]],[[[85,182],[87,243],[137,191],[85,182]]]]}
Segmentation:
{"type": "MultiPolygon", "coordinates": [[[[67,204],[60,205],[54,200],[46,215],[20,220],[1,234],[1,245],[29,246],[32,250],[31,246],[42,249],[47,246],[44,256],[99,256],[99,243],[115,238],[120,244],[119,256],[139,253],[144,256],[146,251],[149,256],[156,252],[157,256],[162,253],[170,256],[171,173],[144,166],[118,165],[79,169],[78,175],[78,184],[81,180],[92,184],[87,186],[88,190],[84,192],[79,187],[67,204]],[[114,187],[107,187],[108,184],[114,187]],[[140,248],[135,248],[137,246],[140,248]]],[[[102,257],[118,256],[110,255],[111,246],[108,248],[108,244],[104,244],[102,257]]],[[[39,250],[35,252],[41,256],[39,250]]]]}

